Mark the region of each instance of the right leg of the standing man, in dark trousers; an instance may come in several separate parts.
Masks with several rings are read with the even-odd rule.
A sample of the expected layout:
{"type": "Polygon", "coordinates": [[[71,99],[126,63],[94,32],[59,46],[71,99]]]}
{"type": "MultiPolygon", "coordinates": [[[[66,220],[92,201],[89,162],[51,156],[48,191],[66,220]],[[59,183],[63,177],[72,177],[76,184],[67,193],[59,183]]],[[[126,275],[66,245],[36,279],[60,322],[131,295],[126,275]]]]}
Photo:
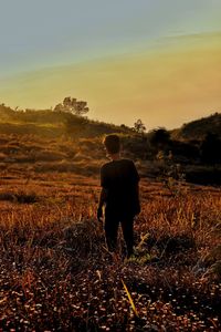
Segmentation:
{"type": "Polygon", "coordinates": [[[134,218],[125,217],[122,219],[122,230],[127,246],[127,258],[134,253],[134,218]]]}

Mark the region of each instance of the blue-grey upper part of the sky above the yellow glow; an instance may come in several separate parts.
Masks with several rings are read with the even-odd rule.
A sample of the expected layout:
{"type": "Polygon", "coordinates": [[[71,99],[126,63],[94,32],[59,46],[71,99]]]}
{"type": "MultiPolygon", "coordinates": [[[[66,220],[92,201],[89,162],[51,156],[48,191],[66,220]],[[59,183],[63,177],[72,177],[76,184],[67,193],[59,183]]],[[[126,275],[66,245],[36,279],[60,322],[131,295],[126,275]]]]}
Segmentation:
{"type": "Polygon", "coordinates": [[[221,30],[220,0],[0,0],[1,76],[221,30]]]}

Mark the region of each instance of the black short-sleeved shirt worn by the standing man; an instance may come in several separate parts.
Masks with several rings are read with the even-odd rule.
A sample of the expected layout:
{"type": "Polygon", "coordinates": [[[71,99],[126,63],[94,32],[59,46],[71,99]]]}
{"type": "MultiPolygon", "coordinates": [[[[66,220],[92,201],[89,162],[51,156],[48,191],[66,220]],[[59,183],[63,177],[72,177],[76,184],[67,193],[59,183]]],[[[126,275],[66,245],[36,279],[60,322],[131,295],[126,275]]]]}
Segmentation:
{"type": "Polygon", "coordinates": [[[139,175],[130,159],[117,159],[101,168],[101,186],[106,189],[106,212],[135,216],[139,212],[139,175]]]}

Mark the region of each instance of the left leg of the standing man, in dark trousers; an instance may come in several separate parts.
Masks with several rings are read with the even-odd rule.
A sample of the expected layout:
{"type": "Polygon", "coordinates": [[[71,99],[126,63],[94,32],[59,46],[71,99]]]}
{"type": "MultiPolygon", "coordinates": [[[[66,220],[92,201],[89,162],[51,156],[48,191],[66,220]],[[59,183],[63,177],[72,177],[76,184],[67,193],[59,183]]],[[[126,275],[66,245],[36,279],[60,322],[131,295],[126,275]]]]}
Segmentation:
{"type": "Polygon", "coordinates": [[[107,248],[110,252],[115,252],[117,249],[117,231],[119,221],[113,215],[105,215],[105,237],[107,248]]]}

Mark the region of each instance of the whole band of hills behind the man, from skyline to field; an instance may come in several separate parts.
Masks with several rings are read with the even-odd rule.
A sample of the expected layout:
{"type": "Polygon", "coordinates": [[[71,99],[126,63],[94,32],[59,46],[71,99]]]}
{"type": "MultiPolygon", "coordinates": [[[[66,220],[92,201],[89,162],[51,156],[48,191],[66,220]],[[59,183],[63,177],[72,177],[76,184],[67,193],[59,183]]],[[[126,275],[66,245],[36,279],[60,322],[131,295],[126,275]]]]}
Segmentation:
{"type": "Polygon", "coordinates": [[[106,124],[70,112],[13,111],[2,104],[0,169],[98,176],[101,164],[106,160],[102,139],[105,134],[117,133],[123,156],[135,160],[143,177],[158,180],[162,174],[177,180],[185,174],[187,181],[220,185],[221,159],[217,152],[221,139],[215,136],[220,124],[221,114],[214,114],[180,129],[156,128],[146,134],[124,124],[106,124]],[[176,165],[180,167],[178,173],[176,165]]]}

